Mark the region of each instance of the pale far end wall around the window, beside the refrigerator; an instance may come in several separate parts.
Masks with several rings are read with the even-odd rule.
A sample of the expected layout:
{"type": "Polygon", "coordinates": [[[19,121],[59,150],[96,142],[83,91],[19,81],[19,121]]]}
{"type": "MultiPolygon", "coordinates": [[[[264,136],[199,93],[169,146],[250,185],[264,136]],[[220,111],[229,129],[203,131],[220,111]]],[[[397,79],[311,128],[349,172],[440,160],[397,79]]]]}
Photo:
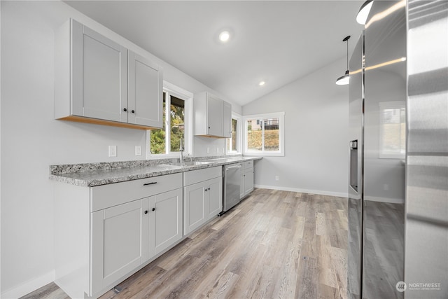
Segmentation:
{"type": "Polygon", "coordinates": [[[256,186],[346,196],[349,85],[335,84],[344,65],[334,62],[243,106],[243,115],[285,112],[285,156],[255,163],[256,186]]]}

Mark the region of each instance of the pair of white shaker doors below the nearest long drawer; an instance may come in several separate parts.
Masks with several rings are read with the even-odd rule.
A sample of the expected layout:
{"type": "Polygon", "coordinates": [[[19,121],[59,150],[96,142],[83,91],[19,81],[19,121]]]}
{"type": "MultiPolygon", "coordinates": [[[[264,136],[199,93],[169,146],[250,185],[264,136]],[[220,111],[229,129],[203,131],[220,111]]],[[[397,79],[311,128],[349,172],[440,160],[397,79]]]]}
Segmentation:
{"type": "Polygon", "coordinates": [[[92,293],[182,238],[182,189],[92,213],[92,293]]]}

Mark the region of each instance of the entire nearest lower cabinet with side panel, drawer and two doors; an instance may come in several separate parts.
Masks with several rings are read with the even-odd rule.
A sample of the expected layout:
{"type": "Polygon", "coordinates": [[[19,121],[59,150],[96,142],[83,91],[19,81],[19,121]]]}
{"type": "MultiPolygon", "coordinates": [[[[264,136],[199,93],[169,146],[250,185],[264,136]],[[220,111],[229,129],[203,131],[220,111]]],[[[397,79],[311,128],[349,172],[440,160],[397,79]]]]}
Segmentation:
{"type": "Polygon", "coordinates": [[[56,284],[71,298],[98,298],[174,246],[182,186],[180,173],[90,188],[55,183],[56,284]]]}

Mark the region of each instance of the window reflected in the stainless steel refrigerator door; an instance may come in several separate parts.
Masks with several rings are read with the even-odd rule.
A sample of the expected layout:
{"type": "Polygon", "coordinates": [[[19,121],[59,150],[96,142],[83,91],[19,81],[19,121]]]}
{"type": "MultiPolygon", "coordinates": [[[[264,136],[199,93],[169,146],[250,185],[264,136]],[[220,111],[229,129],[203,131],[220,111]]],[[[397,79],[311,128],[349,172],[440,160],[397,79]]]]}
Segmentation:
{"type": "Polygon", "coordinates": [[[405,102],[380,102],[379,124],[379,158],[404,159],[406,153],[405,102]]]}

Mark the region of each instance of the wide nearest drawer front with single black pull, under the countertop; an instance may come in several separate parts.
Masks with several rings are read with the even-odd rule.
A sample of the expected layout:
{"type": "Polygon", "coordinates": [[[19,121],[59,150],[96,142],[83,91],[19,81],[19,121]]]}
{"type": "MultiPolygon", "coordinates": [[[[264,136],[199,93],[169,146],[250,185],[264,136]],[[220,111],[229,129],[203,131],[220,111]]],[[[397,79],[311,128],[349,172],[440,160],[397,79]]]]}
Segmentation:
{"type": "Polygon", "coordinates": [[[111,183],[90,188],[90,211],[182,188],[182,174],[167,174],[148,179],[111,183]]]}

